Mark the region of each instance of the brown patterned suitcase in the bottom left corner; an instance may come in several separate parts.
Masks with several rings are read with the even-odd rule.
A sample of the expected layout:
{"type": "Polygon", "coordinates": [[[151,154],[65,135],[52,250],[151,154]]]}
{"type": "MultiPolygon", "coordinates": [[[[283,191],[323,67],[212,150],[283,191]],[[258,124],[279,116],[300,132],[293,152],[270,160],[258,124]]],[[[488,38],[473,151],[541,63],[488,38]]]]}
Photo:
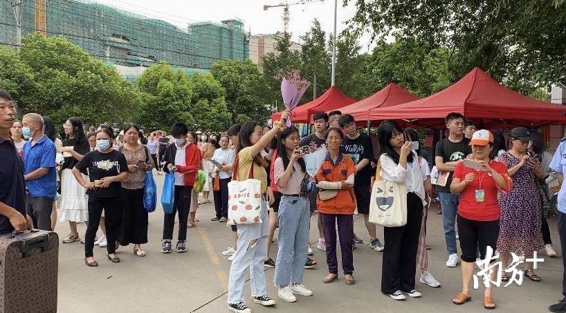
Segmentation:
{"type": "Polygon", "coordinates": [[[58,259],[53,231],[0,235],[0,312],[57,312],[58,259]]]}

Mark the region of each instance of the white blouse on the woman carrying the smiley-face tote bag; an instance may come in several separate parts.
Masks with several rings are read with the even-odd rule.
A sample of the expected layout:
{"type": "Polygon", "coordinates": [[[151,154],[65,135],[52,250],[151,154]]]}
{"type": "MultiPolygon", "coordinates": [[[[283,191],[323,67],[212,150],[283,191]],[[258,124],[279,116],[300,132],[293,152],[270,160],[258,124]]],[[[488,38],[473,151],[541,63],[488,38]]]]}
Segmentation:
{"type": "Polygon", "coordinates": [[[405,184],[408,193],[415,193],[423,205],[426,205],[426,193],[423,183],[423,172],[419,164],[419,156],[413,152],[413,161],[407,162],[407,168],[396,164],[387,154],[381,154],[381,179],[393,181],[397,184],[405,184]]]}

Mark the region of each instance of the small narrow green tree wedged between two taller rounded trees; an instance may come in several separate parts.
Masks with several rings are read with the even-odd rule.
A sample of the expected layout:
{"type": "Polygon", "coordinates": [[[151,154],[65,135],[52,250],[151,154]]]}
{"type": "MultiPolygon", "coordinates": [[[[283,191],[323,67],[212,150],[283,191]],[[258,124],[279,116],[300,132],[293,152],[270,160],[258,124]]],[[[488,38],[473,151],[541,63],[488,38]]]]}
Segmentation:
{"type": "Polygon", "coordinates": [[[232,123],[232,114],[226,106],[226,90],[212,74],[192,76],[193,129],[223,132],[232,123]]]}

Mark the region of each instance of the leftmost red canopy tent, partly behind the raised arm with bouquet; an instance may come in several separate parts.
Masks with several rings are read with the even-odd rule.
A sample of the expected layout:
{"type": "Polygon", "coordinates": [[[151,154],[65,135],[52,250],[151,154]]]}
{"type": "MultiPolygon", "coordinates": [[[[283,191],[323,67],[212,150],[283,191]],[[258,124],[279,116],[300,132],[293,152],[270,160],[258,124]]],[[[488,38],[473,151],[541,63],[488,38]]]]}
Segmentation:
{"type": "MultiPolygon", "coordinates": [[[[310,123],[311,116],[318,111],[327,112],[340,109],[346,105],[356,102],[355,99],[346,96],[338,87],[332,86],[322,96],[293,109],[291,120],[293,123],[310,123]]],[[[271,120],[280,120],[281,112],[271,115],[271,120]]]]}

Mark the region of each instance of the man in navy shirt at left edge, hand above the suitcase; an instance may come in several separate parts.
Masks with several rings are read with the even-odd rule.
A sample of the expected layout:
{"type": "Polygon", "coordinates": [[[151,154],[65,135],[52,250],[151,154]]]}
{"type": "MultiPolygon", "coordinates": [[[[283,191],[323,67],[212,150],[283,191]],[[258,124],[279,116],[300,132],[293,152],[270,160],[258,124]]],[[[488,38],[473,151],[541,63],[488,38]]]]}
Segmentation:
{"type": "Polygon", "coordinates": [[[26,216],[24,164],[9,133],[15,115],[12,96],[0,90],[0,233],[33,227],[30,217],[26,216]]]}

